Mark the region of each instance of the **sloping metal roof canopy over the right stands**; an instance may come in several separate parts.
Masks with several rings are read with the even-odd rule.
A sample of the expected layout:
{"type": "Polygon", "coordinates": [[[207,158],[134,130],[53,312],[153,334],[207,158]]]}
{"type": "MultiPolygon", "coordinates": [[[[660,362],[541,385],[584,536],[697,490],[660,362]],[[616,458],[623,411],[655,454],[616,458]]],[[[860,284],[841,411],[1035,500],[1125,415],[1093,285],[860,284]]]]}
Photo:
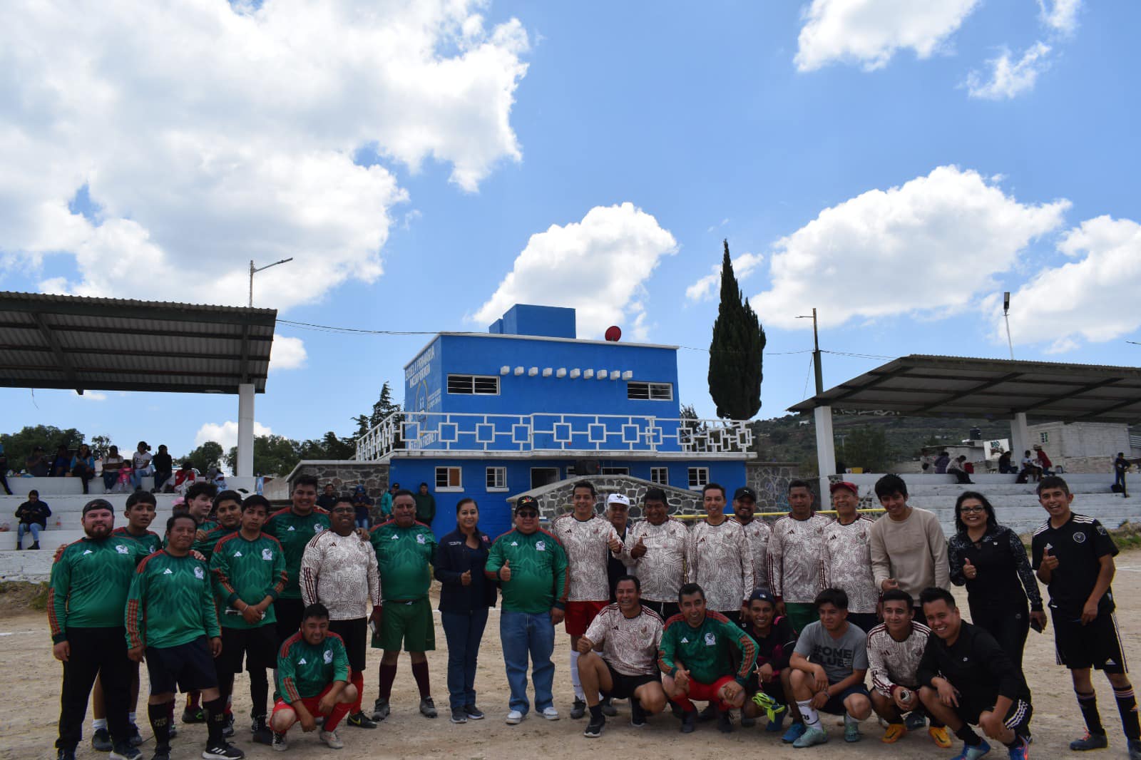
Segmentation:
{"type": "Polygon", "coordinates": [[[911,355],[807,398],[790,412],[890,411],[907,417],[1018,414],[1065,422],[1141,420],[1141,369],[911,355]]]}

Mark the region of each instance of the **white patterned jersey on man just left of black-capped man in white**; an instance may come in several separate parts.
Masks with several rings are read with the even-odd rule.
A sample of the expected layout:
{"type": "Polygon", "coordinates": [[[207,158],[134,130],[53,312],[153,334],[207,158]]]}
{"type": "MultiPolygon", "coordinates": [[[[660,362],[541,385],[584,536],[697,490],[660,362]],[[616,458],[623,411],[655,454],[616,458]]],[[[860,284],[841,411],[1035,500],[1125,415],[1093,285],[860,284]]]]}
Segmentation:
{"type": "Polygon", "coordinates": [[[701,520],[689,531],[689,581],[705,591],[705,607],[739,612],[741,603],[756,588],[753,552],[737,520],[720,525],[701,520]]]}

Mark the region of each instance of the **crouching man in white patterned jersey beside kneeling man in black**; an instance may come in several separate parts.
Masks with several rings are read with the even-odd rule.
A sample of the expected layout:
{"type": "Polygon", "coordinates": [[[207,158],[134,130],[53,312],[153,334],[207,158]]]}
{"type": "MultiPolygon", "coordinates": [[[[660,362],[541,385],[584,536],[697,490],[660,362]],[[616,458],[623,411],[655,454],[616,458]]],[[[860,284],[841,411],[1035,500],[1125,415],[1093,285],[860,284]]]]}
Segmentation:
{"type": "MultiPolygon", "coordinates": [[[[920,701],[919,670],[930,636],[930,628],[915,622],[912,595],[900,589],[883,595],[883,623],[867,634],[867,665],[872,673],[872,709],[888,722],[881,739],[884,744],[895,744],[907,733],[905,714],[922,718],[925,713],[920,701]]],[[[936,745],[950,746],[947,728],[937,719],[932,719],[928,734],[936,745]]]]}

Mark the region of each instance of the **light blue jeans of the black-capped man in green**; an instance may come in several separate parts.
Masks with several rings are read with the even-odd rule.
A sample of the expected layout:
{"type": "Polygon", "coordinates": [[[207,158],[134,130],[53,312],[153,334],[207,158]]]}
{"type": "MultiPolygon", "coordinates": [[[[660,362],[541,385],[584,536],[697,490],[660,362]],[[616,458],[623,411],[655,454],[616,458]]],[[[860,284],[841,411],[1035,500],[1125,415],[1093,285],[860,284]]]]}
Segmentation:
{"type": "Polygon", "coordinates": [[[531,680],[535,685],[535,709],[542,712],[555,704],[551,688],[555,685],[555,625],[550,613],[500,613],[500,639],[503,642],[503,664],[507,682],[511,688],[511,710],[527,714],[527,655],[531,655],[531,680]]]}

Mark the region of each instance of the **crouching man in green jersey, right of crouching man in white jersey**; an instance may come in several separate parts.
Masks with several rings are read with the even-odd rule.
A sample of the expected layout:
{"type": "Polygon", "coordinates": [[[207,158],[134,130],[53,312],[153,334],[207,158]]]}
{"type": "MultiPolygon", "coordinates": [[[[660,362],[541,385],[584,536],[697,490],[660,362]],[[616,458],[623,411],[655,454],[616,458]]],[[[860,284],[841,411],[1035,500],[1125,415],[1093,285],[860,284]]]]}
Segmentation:
{"type": "Polygon", "coordinates": [[[717,705],[718,730],[729,733],[729,711],[745,704],[745,685],[756,665],[756,641],[719,612],[705,609],[705,591],[696,583],[678,590],[681,613],[665,622],[657,655],[662,688],[681,706],[681,733],[697,723],[693,700],[717,705]],[[736,652],[734,652],[736,649],[736,652]],[[739,665],[734,668],[734,661],[739,665]]]}

